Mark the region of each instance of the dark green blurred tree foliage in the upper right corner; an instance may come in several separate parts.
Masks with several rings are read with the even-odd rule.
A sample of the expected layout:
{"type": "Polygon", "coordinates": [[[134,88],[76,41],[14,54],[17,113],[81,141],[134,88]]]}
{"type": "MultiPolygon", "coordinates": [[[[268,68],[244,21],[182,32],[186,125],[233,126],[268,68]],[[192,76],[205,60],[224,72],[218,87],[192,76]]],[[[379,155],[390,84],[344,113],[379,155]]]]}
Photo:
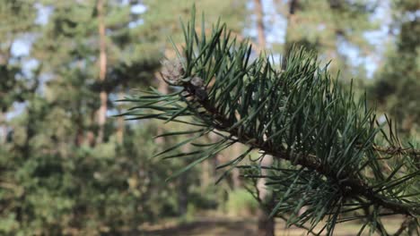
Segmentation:
{"type": "Polygon", "coordinates": [[[399,131],[418,137],[420,126],[420,4],[394,1],[394,30],[398,31],[388,59],[376,75],[372,94],[381,109],[391,111],[399,131]],[[417,12],[416,12],[417,11],[417,12]]]}

